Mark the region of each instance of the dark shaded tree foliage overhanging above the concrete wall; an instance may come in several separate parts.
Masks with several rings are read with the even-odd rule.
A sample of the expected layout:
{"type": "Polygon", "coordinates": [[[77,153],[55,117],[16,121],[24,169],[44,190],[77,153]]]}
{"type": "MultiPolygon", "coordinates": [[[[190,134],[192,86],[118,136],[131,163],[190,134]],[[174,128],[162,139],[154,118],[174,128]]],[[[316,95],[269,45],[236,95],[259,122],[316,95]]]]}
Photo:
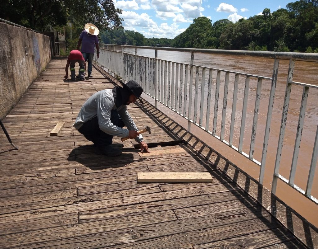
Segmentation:
{"type": "Polygon", "coordinates": [[[7,0],[0,5],[1,18],[40,31],[68,20],[75,26],[91,22],[100,30],[121,28],[119,14],[112,0],[7,0]]]}

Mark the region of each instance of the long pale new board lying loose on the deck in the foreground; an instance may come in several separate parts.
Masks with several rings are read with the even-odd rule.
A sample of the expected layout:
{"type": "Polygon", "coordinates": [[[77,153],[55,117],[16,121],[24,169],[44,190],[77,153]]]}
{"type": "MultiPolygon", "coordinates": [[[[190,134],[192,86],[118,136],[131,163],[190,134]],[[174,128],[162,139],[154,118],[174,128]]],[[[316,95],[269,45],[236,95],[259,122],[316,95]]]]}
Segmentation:
{"type": "Polygon", "coordinates": [[[138,172],[137,182],[212,182],[208,172],[138,172]]]}

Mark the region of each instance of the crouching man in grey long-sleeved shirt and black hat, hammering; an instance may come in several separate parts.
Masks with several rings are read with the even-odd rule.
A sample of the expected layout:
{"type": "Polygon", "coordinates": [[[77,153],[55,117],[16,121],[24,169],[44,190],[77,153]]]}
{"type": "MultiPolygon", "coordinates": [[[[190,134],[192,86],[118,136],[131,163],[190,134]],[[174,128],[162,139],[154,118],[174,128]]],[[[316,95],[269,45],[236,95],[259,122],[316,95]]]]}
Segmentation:
{"type": "Polygon", "coordinates": [[[135,103],[136,99],[142,102],[143,89],[134,80],[122,85],[94,93],[86,100],[75,120],[74,127],[94,143],[98,155],[121,155],[121,150],[111,146],[114,136],[134,138],[142,152],[149,152],[127,110],[127,106],[135,103]]]}

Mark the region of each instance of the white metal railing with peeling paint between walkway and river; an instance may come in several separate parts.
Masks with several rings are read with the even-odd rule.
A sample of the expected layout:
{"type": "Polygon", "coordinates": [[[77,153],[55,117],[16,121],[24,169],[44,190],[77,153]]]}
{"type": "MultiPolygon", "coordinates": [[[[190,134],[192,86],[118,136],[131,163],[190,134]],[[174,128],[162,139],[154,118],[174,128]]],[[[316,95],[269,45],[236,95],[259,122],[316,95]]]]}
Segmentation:
{"type": "MultiPolygon", "coordinates": [[[[96,55],[95,55],[96,56],[96,55]]],[[[255,164],[260,166],[259,182],[263,184],[264,171],[266,163],[266,154],[269,143],[270,126],[272,121],[273,104],[275,97],[275,89],[277,83],[277,76],[279,70],[280,59],[289,60],[289,71],[287,78],[286,94],[284,99],[283,113],[280,126],[279,143],[276,153],[276,161],[273,175],[272,192],[275,194],[277,187],[277,180],[281,179],[289,186],[306,196],[308,199],[318,204],[318,200],[311,195],[311,189],[313,186],[313,180],[315,175],[315,168],[317,164],[318,145],[317,134],[318,125],[315,135],[315,144],[312,153],[311,165],[308,175],[306,190],[301,189],[294,184],[296,165],[299,153],[299,147],[301,142],[301,135],[303,131],[304,116],[306,111],[306,104],[308,99],[309,88],[317,89],[318,85],[305,84],[293,81],[293,72],[295,60],[297,61],[310,61],[318,62],[318,54],[305,54],[305,53],[285,53],[285,52],[259,52],[259,51],[234,51],[234,50],[210,50],[210,49],[183,49],[183,48],[152,48],[152,47],[135,47],[124,45],[105,45],[100,44],[100,58],[94,60],[97,64],[104,68],[107,68],[114,74],[120,76],[124,81],[130,79],[139,82],[146,94],[151,96],[157,102],[164,104],[171,110],[180,114],[188,120],[188,130],[190,131],[190,123],[194,123],[198,127],[205,130],[207,133],[218,138],[223,143],[230,146],[232,149],[238,151],[245,157],[249,158],[255,164]],[[125,52],[125,49],[130,53],[125,52]],[[137,55],[137,49],[151,49],[155,51],[153,57],[146,57],[137,55]],[[131,51],[134,51],[133,54],[131,51]],[[172,62],[163,59],[158,59],[158,50],[165,51],[177,51],[190,53],[190,64],[172,62]],[[194,53],[213,53],[223,55],[245,55],[245,56],[257,56],[274,59],[272,77],[264,77],[259,75],[253,75],[249,73],[242,73],[231,70],[223,70],[212,67],[204,67],[194,65],[194,53]],[[216,74],[216,76],[215,76],[216,74]],[[221,86],[221,74],[224,76],[224,91],[223,91],[223,105],[219,107],[219,93],[221,86]],[[213,78],[215,77],[215,79],[213,78]],[[238,146],[233,145],[233,134],[235,131],[235,118],[236,118],[236,106],[238,103],[238,90],[239,80],[243,77],[244,84],[244,98],[243,108],[241,114],[241,123],[239,128],[239,141],[238,146]],[[233,80],[233,95],[232,95],[232,110],[231,121],[228,141],[225,140],[225,125],[226,125],[226,110],[228,108],[228,89],[229,81],[233,80]],[[251,142],[249,150],[243,151],[243,140],[245,138],[245,121],[247,112],[247,101],[249,96],[249,85],[251,79],[257,81],[255,105],[253,111],[251,142]],[[213,83],[212,83],[213,81],[213,83]],[[266,114],[265,134],[262,149],[261,159],[256,160],[254,158],[254,146],[256,143],[257,124],[259,115],[260,99],[262,95],[262,83],[263,81],[270,81],[270,91],[268,97],[268,108],[266,114]],[[215,85],[215,92],[212,93],[212,84],[215,85]],[[294,144],[294,153],[292,158],[292,166],[290,170],[289,179],[279,174],[280,157],[283,148],[283,141],[286,128],[286,120],[288,113],[288,104],[290,99],[290,92],[292,85],[303,86],[303,95],[301,100],[300,115],[297,127],[296,141],[294,144]],[[211,100],[214,98],[214,106],[211,107],[211,100]],[[206,101],[205,101],[206,99],[206,101]],[[210,125],[210,114],[213,110],[213,118],[211,117],[212,124],[210,125]],[[219,134],[217,135],[217,122],[218,112],[221,112],[221,125],[219,128],[219,134]]],[[[242,91],[243,92],[243,89],[242,91]]]]}

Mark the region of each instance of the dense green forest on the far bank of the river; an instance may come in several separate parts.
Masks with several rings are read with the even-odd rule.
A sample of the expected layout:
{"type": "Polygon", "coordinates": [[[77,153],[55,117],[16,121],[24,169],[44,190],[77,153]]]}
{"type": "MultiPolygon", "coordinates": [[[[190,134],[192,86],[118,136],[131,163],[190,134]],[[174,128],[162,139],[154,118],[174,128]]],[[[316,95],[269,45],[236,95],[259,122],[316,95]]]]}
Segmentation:
{"type": "Polygon", "coordinates": [[[273,12],[266,8],[236,23],[222,19],[212,24],[198,17],[172,40],[123,29],[105,31],[100,38],[106,44],[318,53],[318,0],[300,0],[273,12]]]}

